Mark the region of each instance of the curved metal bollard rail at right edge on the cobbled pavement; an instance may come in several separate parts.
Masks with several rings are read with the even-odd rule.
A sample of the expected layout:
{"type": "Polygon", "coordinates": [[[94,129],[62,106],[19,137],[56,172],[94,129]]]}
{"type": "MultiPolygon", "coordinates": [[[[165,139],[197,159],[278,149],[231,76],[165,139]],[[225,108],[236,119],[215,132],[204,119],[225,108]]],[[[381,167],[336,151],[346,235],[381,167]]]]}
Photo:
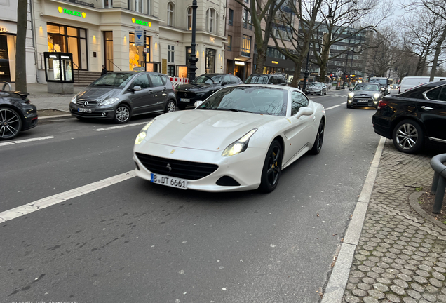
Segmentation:
{"type": "Polygon", "coordinates": [[[431,194],[435,194],[432,213],[440,213],[446,191],[446,154],[439,154],[431,159],[431,168],[434,170],[431,194]]]}

